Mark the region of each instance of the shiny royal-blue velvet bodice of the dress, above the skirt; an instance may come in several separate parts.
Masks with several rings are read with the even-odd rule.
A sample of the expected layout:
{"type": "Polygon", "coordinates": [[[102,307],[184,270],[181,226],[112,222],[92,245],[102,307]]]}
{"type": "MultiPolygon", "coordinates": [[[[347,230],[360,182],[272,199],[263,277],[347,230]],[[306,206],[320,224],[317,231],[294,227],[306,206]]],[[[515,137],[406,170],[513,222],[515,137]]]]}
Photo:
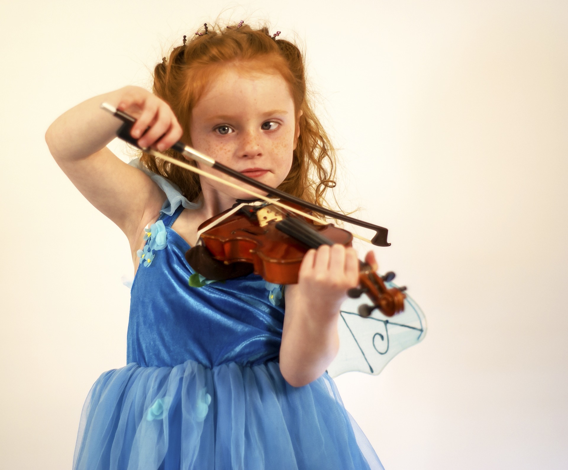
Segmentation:
{"type": "Polygon", "coordinates": [[[194,271],[185,259],[190,246],[171,228],[182,210],[180,205],[173,215],[162,213],[166,245],[136,272],[127,363],[161,367],[194,360],[212,368],[277,359],[284,308],[274,284],[251,274],[224,282],[201,278],[202,287],[191,287],[194,271]]]}

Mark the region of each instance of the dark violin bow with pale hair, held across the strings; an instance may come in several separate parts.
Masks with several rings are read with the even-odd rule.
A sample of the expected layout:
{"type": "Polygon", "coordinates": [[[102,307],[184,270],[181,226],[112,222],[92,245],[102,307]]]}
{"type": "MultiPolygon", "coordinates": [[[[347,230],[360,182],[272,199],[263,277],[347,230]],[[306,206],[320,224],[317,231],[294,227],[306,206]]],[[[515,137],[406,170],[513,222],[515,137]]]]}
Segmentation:
{"type": "MultiPolygon", "coordinates": [[[[207,173],[207,171],[203,171],[203,170],[199,169],[198,167],[195,167],[195,166],[189,165],[188,163],[176,160],[175,158],[169,157],[169,156],[167,156],[167,155],[165,155],[161,152],[158,152],[157,150],[154,150],[154,149],[151,149],[151,148],[147,148],[147,149],[141,148],[137,144],[136,139],[134,139],[130,135],[130,129],[132,128],[132,124],[134,124],[136,122],[136,119],[133,118],[133,116],[127,114],[124,111],[117,110],[114,106],[112,106],[111,104],[108,104],[108,103],[102,103],[101,108],[103,108],[103,110],[110,112],[113,116],[115,116],[116,118],[118,118],[118,119],[120,119],[124,122],[124,124],[116,132],[116,135],[120,139],[128,142],[128,144],[131,144],[131,145],[135,146],[136,148],[139,148],[140,150],[144,150],[144,152],[148,152],[151,155],[153,155],[154,157],[161,158],[162,160],[164,160],[166,162],[172,163],[173,165],[177,165],[179,167],[185,168],[186,170],[193,171],[194,173],[197,173],[197,174],[199,174],[203,177],[206,177],[206,178],[213,179],[214,181],[218,181],[220,183],[227,184],[227,186],[231,186],[233,188],[237,188],[241,191],[247,192],[248,194],[254,196],[257,199],[262,199],[262,200],[265,200],[266,202],[269,202],[271,204],[278,205],[279,207],[285,208],[287,211],[298,213],[298,214],[302,215],[303,217],[307,217],[308,219],[314,220],[314,221],[321,224],[321,222],[322,222],[321,219],[318,219],[317,217],[306,214],[305,212],[299,211],[298,209],[290,207],[286,204],[282,204],[281,202],[274,200],[272,198],[269,198],[268,196],[263,196],[261,194],[254,192],[254,191],[250,191],[247,188],[243,188],[243,187],[239,186],[238,184],[231,183],[229,181],[224,180],[223,178],[216,177],[215,175],[207,173]]],[[[385,227],[370,224],[369,222],[365,222],[363,220],[354,219],[353,217],[349,217],[349,216],[346,216],[344,214],[332,211],[331,209],[327,209],[325,207],[320,207],[319,205],[312,204],[312,203],[304,201],[303,199],[296,198],[295,196],[292,196],[291,194],[288,194],[287,192],[284,192],[284,191],[281,191],[277,188],[273,188],[271,186],[268,186],[268,184],[261,183],[260,181],[256,181],[253,178],[250,178],[246,175],[243,175],[239,171],[233,170],[231,167],[228,167],[228,166],[223,165],[222,163],[216,162],[213,158],[199,152],[198,150],[195,150],[194,148],[190,147],[189,145],[183,144],[183,142],[181,142],[181,141],[176,142],[176,144],[172,145],[171,148],[173,150],[176,150],[176,152],[181,153],[184,157],[191,158],[191,160],[195,160],[199,163],[202,163],[202,165],[206,165],[206,166],[211,167],[215,170],[219,170],[221,173],[224,173],[225,175],[228,175],[232,178],[235,178],[235,179],[237,179],[237,180],[239,180],[243,183],[247,183],[250,186],[256,187],[258,190],[265,191],[266,194],[278,196],[278,198],[283,199],[287,202],[298,204],[301,207],[304,207],[306,209],[310,209],[310,211],[318,212],[320,214],[323,214],[323,215],[326,215],[326,216],[329,216],[329,217],[333,217],[333,219],[343,220],[344,222],[348,222],[348,223],[353,224],[353,225],[357,225],[357,226],[360,226],[360,227],[363,227],[363,228],[374,230],[375,235],[374,235],[373,238],[371,238],[371,240],[369,240],[365,237],[358,236],[355,233],[353,233],[353,236],[356,237],[356,238],[359,238],[360,240],[369,242],[370,244],[373,244],[375,246],[390,246],[390,243],[387,242],[387,236],[389,234],[389,230],[386,229],[385,227]]]]}

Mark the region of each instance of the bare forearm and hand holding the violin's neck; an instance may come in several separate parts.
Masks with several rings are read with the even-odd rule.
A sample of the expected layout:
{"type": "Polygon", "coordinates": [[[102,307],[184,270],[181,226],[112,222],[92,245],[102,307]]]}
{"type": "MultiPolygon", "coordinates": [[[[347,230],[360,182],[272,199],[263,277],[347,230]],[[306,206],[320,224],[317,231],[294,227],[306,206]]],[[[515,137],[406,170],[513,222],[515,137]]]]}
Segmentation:
{"type": "Polygon", "coordinates": [[[335,358],[340,305],[357,286],[358,274],[353,248],[323,245],[304,257],[298,284],[286,286],[280,370],[290,385],[317,379],[335,358]]]}

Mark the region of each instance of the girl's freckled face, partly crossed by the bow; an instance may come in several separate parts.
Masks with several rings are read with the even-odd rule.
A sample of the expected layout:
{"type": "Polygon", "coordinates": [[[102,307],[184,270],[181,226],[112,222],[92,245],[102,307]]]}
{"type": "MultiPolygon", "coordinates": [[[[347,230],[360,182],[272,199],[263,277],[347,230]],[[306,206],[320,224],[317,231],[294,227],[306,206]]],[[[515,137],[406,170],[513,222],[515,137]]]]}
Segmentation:
{"type": "MultiPolygon", "coordinates": [[[[278,186],[290,171],[298,136],[294,101],[286,81],[278,73],[242,73],[237,67],[227,68],[193,108],[190,133],[197,150],[257,181],[278,186]]],[[[208,186],[233,198],[252,198],[206,178],[201,178],[201,183],[204,190],[208,186]]]]}

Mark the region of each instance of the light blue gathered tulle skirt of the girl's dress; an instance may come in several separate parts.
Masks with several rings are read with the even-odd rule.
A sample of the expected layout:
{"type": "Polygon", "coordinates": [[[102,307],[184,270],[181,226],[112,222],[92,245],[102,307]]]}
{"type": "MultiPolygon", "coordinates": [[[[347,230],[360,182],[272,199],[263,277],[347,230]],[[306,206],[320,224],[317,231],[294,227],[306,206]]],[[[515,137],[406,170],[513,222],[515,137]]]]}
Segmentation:
{"type": "Polygon", "coordinates": [[[107,371],[83,407],[76,470],[382,469],[324,374],[291,387],[277,362],[107,371]]]}

